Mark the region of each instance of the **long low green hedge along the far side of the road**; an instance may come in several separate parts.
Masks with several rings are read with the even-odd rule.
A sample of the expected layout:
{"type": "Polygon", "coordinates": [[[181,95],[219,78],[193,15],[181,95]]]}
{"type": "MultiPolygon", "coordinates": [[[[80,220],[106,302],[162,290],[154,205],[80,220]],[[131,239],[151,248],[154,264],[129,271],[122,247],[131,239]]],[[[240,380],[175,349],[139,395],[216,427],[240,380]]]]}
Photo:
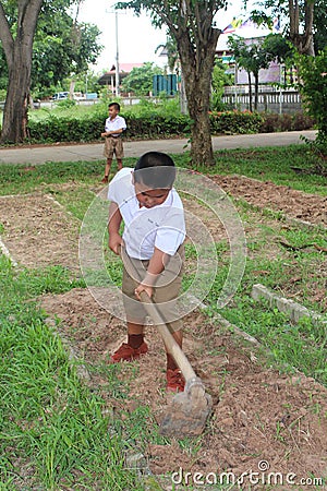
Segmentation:
{"type": "MultiPolygon", "coordinates": [[[[78,112],[77,106],[69,111],[64,105],[56,111],[49,111],[43,119],[29,119],[29,142],[102,141],[100,133],[108,117],[108,108],[106,104],[96,106],[96,110],[78,112]]],[[[125,137],[142,140],[190,135],[191,119],[181,115],[175,104],[162,101],[156,107],[145,100],[138,106],[124,107],[121,111],[128,125],[125,137]]],[[[304,130],[313,127],[313,119],[302,113],[291,116],[233,110],[213,111],[209,112],[209,118],[213,135],[304,130]]]]}

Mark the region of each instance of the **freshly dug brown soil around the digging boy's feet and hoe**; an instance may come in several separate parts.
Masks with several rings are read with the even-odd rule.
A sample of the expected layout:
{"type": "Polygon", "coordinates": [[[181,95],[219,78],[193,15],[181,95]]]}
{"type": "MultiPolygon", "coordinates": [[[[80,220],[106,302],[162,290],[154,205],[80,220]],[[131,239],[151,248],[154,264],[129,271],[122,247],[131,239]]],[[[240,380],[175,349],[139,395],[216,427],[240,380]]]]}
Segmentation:
{"type": "MultiPolygon", "coordinates": [[[[51,318],[62,320],[60,328],[87,363],[109,363],[110,352],[125,338],[123,322],[99,308],[87,290],[46,296],[40,302],[51,318]]],[[[310,476],[326,478],[327,390],[303,374],[289,376],[264,368],[253,346],[198,311],[184,325],[185,354],[213,396],[214,411],[196,452],[181,448],[174,440],[142,448],[150,470],[164,475],[181,467],[183,472],[228,470],[240,476],[263,470],[258,466],[265,462],[271,472],[295,474],[296,483],[310,476]]],[[[126,399],[111,397],[99,375],[92,375],[90,383],[109,408],[133,411],[146,405],[160,422],[171,396],[164,391],[165,354],[153,326],[147,342],[149,352],[135,362],[138,373],[126,399]]]]}

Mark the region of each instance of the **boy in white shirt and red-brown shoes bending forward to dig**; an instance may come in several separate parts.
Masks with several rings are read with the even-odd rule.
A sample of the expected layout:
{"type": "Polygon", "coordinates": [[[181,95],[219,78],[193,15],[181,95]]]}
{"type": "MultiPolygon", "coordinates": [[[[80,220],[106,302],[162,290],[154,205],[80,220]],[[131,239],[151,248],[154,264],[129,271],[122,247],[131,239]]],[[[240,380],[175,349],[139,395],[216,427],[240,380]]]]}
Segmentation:
{"type": "MultiPolygon", "coordinates": [[[[119,248],[123,247],[140,276],[132,277],[123,266],[128,343],[111,356],[112,362],[132,361],[148,350],[144,340],[146,312],[140,299],[142,291],[156,302],[172,336],[182,347],[182,321],[175,300],[182,280],[185,221],[181,199],[172,188],[174,179],[173,160],[166,154],[148,152],[138,159],[134,170],[124,168],[110,182],[109,248],[118,254],[119,248]]],[[[173,358],[166,355],[167,388],[182,392],[185,381],[173,358]]]]}

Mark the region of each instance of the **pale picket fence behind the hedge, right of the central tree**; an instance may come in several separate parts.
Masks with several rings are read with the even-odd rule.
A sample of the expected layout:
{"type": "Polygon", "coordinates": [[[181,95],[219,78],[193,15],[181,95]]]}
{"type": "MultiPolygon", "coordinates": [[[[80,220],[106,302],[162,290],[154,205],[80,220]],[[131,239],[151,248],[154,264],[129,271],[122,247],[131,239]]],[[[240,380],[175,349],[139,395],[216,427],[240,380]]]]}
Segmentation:
{"type": "MultiPolygon", "coordinates": [[[[222,101],[235,109],[245,110],[250,109],[250,95],[249,93],[241,93],[238,91],[232,92],[232,87],[226,87],[222,101]]],[[[254,94],[252,94],[252,109],[254,108],[254,94]]],[[[296,91],[271,91],[259,92],[257,111],[269,111],[277,113],[294,113],[303,110],[301,95],[296,91]]]]}

